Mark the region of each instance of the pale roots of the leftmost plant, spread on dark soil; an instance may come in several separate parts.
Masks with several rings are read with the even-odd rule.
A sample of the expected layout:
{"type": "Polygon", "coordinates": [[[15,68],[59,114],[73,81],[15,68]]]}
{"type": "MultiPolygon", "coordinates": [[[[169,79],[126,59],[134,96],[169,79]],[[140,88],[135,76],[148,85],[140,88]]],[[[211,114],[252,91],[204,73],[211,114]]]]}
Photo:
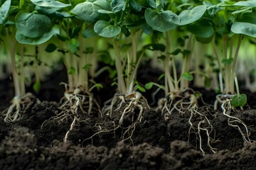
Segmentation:
{"type": "Polygon", "coordinates": [[[22,113],[35,102],[40,103],[38,98],[31,93],[27,93],[21,97],[15,96],[11,100],[11,106],[2,112],[4,115],[4,121],[9,123],[20,120],[22,118],[22,113]]]}

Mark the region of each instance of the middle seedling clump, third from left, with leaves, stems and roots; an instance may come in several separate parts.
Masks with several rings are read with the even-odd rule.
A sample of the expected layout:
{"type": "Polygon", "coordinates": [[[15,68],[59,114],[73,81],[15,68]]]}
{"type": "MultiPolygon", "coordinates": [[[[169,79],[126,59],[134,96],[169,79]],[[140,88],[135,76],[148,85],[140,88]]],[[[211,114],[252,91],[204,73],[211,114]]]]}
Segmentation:
{"type": "Polygon", "coordinates": [[[124,125],[124,118],[129,115],[132,125],[124,132],[124,137],[134,130],[136,123],[142,122],[145,110],[149,109],[146,99],[136,91],[144,90],[136,81],[137,69],[146,50],[138,50],[142,47],[138,43],[143,35],[142,5],[137,1],[125,0],[86,1],[75,6],[73,12],[82,20],[93,23],[95,33],[112,45],[117,69],[117,94],[105,102],[102,113],[111,119],[119,118],[119,123],[111,130],[100,132],[112,132],[120,128],[124,125]]]}

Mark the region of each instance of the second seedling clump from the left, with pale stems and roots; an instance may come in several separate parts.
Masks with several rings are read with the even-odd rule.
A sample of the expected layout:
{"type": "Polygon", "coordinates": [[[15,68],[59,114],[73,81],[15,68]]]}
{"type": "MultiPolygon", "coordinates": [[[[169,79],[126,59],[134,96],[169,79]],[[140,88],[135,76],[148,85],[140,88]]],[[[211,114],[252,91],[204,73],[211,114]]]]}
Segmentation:
{"type": "MultiPolygon", "coordinates": [[[[75,18],[75,3],[70,8],[62,8],[55,12],[55,22],[58,24],[60,33],[57,40],[48,44],[46,51],[58,50],[62,55],[63,64],[68,74],[68,84],[65,85],[65,94],[60,100],[61,112],[50,118],[50,121],[66,123],[71,118],[72,123],[66,132],[64,141],[75,126],[87,120],[90,114],[97,114],[99,104],[92,95],[92,90],[101,88],[89,79],[90,68],[93,67],[97,58],[97,40],[95,33],[91,33],[91,26],[80,18],[75,18]],[[71,12],[67,12],[71,10],[71,12]]],[[[92,70],[92,72],[95,69],[92,70]]],[[[94,73],[92,73],[94,74],[94,73]]]]}

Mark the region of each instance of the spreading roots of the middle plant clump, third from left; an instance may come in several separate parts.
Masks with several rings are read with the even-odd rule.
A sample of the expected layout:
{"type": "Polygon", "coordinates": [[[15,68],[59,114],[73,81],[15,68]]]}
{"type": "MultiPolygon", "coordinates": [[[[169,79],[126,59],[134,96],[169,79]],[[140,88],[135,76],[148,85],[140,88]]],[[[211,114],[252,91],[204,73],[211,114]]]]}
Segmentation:
{"type": "Polygon", "coordinates": [[[150,109],[146,98],[137,91],[131,94],[115,94],[114,98],[106,101],[105,106],[102,108],[102,116],[107,115],[113,120],[112,128],[97,124],[95,126],[99,131],[85,140],[92,140],[95,135],[102,133],[113,132],[115,135],[115,131],[122,128],[122,130],[124,130],[122,133],[122,141],[130,140],[132,142],[132,135],[136,125],[137,123],[142,123],[146,109],[150,109]],[[118,120],[118,123],[115,123],[114,120],[118,120]],[[128,126],[124,127],[127,124],[128,126]]]}

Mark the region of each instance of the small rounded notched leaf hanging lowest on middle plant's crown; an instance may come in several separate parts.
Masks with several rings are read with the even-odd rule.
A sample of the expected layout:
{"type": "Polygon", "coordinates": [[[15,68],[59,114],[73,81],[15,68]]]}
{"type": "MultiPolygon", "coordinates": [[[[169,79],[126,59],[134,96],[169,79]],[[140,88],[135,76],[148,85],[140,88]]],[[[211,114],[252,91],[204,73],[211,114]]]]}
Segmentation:
{"type": "Polygon", "coordinates": [[[121,32],[119,26],[112,26],[107,21],[97,21],[94,26],[95,33],[105,38],[112,38],[121,32]]]}

